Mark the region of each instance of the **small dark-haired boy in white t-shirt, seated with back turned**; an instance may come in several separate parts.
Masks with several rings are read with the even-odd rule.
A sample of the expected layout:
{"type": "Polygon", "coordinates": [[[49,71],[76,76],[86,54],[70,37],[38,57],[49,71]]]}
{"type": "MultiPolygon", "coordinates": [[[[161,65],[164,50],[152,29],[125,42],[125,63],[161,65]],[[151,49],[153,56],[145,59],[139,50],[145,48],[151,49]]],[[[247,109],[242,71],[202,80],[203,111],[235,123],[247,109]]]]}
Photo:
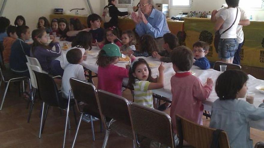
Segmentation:
{"type": "Polygon", "coordinates": [[[69,64],[66,66],[61,83],[62,97],[69,97],[70,91],[70,78],[76,78],[81,81],[85,81],[83,67],[80,65],[82,62],[82,51],[78,48],[73,48],[66,54],[67,61],[69,64]]]}

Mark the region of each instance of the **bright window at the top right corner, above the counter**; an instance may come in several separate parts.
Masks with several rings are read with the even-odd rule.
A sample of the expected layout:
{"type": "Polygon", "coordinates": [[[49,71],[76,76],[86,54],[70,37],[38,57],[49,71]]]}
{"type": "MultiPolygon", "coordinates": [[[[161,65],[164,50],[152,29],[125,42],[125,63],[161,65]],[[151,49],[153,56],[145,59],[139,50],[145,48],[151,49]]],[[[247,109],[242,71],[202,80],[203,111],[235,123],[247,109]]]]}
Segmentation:
{"type": "Polygon", "coordinates": [[[249,8],[263,8],[263,0],[240,0],[239,1],[239,7],[242,7],[244,9],[249,8]]]}

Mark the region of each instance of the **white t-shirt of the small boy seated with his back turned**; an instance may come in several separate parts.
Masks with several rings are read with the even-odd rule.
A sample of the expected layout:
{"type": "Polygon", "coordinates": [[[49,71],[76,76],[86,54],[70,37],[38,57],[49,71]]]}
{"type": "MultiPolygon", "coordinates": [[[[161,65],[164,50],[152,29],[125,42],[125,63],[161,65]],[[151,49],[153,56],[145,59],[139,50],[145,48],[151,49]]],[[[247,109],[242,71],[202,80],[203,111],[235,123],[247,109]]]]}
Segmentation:
{"type": "MultiPolygon", "coordinates": [[[[80,64],[68,64],[66,68],[64,69],[63,77],[62,77],[62,83],[61,83],[61,91],[62,91],[62,97],[67,98],[69,97],[69,91],[70,91],[70,78],[76,78],[81,81],[85,80],[85,76],[83,73],[83,67],[80,64]]],[[[72,95],[73,96],[73,95],[72,95]]]]}

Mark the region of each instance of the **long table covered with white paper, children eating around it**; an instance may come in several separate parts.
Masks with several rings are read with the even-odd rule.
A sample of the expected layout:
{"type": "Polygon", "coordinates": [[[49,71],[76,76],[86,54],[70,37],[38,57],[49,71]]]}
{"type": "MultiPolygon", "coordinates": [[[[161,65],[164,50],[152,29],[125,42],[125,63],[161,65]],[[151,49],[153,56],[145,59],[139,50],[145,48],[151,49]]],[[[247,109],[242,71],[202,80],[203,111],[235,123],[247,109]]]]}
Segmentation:
{"type": "MultiPolygon", "coordinates": [[[[96,60],[97,60],[97,55],[98,55],[99,51],[100,50],[97,47],[93,47],[92,50],[90,51],[91,54],[88,54],[87,59],[83,60],[81,65],[83,65],[85,68],[97,73],[98,72],[98,65],[96,65],[96,60]]],[[[151,62],[151,63],[156,64],[156,65],[159,65],[161,63],[160,61],[157,61],[156,59],[154,59],[152,57],[147,57],[147,58],[146,57],[137,57],[137,58],[143,58],[147,62],[151,62]]],[[[127,63],[119,62],[116,65],[119,67],[125,68],[126,64],[127,63]]],[[[169,98],[169,99],[172,99],[170,78],[171,78],[171,76],[173,76],[175,74],[175,72],[173,71],[172,63],[164,63],[164,67],[165,67],[165,71],[164,71],[165,87],[162,89],[153,90],[153,93],[161,95],[161,96],[169,98]]],[[[158,67],[151,68],[151,70],[152,70],[152,77],[157,77],[157,75],[159,74],[158,67]]],[[[221,72],[219,72],[219,71],[216,71],[213,69],[202,70],[197,66],[193,66],[190,69],[190,71],[193,71],[195,73],[194,76],[199,78],[199,80],[202,83],[205,83],[208,77],[211,77],[212,80],[214,82],[216,82],[217,77],[221,74],[221,72]]],[[[259,104],[262,103],[262,100],[264,99],[264,95],[259,93],[255,89],[255,87],[259,86],[259,85],[264,85],[264,81],[256,79],[255,77],[253,77],[251,75],[248,75],[248,77],[249,77],[249,80],[247,83],[248,91],[254,92],[256,94],[255,98],[254,98],[254,106],[258,107],[259,104]]],[[[123,83],[127,84],[127,82],[128,82],[128,78],[125,78],[123,80],[123,83]]],[[[212,103],[216,99],[218,99],[218,97],[217,97],[215,90],[213,89],[209,98],[207,100],[203,101],[204,109],[207,111],[211,111],[212,103]]],[[[240,99],[245,100],[245,98],[240,98],[240,99]]],[[[250,127],[260,129],[260,130],[264,130],[264,119],[250,122],[250,127]]]]}

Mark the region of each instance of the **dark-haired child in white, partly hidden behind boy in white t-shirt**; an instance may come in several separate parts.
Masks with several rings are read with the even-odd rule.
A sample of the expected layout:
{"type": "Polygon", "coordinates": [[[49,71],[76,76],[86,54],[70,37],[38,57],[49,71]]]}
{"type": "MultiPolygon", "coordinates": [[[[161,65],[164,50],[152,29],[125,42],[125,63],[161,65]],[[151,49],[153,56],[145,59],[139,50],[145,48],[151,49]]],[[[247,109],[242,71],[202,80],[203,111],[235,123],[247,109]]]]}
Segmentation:
{"type": "MultiPolygon", "coordinates": [[[[71,43],[71,46],[73,48],[79,48],[82,51],[83,59],[86,59],[85,50],[91,50],[92,49],[92,35],[90,32],[87,31],[81,31],[77,34],[76,38],[71,43]]],[[[71,50],[71,49],[69,49],[71,50]]],[[[68,50],[68,51],[69,51],[68,50]]],[[[51,73],[55,76],[63,75],[65,67],[69,64],[69,62],[66,59],[66,54],[61,54],[59,57],[57,57],[55,60],[51,62],[51,73]]]]}

